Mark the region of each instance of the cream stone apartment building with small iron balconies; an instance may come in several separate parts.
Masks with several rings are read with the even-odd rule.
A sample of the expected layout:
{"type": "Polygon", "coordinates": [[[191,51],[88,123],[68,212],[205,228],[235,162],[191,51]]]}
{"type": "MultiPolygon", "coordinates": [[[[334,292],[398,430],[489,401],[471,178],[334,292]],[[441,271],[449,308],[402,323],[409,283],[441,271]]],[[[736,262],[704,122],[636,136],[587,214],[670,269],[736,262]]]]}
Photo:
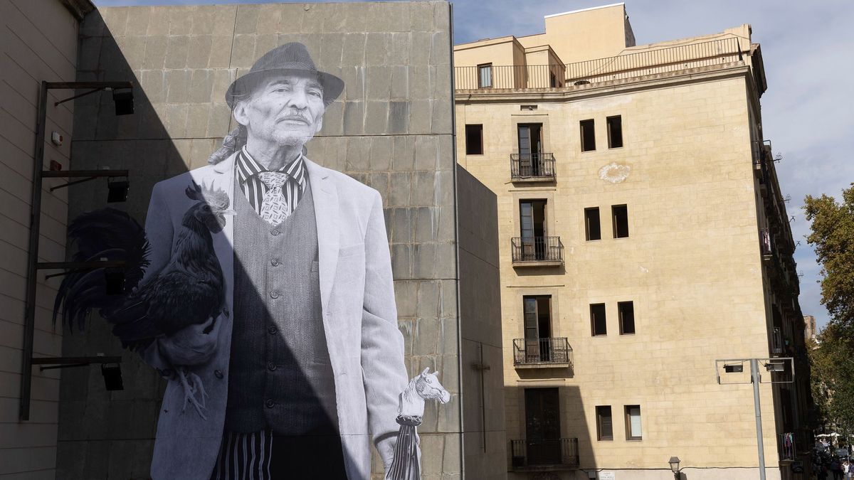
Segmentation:
{"type": "Polygon", "coordinates": [[[761,372],[763,455],[768,478],[805,478],[804,322],[751,34],[637,45],[617,3],[454,47],[458,161],[498,197],[508,477],[669,478],[678,457],[683,478],[755,479],[749,364],[716,360],[793,357],[791,383],[761,372]]]}

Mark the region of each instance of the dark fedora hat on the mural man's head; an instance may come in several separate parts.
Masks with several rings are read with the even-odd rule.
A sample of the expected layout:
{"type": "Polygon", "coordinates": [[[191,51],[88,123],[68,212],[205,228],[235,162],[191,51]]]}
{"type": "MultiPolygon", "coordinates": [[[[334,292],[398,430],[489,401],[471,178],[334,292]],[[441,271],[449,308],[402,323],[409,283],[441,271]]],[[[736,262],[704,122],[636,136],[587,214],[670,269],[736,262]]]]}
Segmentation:
{"type": "Polygon", "coordinates": [[[249,70],[249,73],[235,80],[225,92],[225,102],[234,108],[234,102],[240,97],[252,93],[260,82],[270,77],[272,73],[301,73],[316,75],[323,86],[323,102],[328,107],[331,102],[341,95],[344,81],[331,73],[318,72],[314,67],[312,57],[308,55],[306,46],[299,42],[279,45],[261,56],[249,70]]]}

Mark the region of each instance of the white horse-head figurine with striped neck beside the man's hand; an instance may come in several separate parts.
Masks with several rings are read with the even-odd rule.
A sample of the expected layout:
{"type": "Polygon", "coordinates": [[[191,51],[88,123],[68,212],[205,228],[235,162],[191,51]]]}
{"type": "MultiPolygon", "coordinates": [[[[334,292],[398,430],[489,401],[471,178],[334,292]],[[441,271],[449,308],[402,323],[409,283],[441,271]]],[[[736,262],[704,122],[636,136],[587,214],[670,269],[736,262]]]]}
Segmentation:
{"type": "Polygon", "coordinates": [[[451,394],[439,383],[436,373],[430,373],[428,366],[418,377],[412,378],[401,393],[397,407],[397,423],[401,428],[397,431],[395,460],[386,472],[386,480],[421,480],[416,428],[424,417],[424,401],[447,403],[451,400],[451,394]]]}

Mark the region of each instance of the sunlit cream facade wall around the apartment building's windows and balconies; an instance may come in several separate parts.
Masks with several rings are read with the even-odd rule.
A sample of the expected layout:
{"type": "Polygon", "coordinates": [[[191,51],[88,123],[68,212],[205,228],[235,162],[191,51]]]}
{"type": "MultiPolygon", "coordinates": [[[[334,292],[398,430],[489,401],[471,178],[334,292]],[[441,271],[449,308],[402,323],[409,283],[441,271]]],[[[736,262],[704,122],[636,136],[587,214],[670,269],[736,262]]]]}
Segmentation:
{"type": "MultiPolygon", "coordinates": [[[[663,469],[678,455],[683,466],[746,467],[727,475],[756,477],[751,386],[718,385],[714,369],[716,359],[769,354],[745,73],[660,79],[636,91],[558,92],[552,100],[517,91],[502,102],[472,97],[457,104],[459,162],[497,196],[508,439],[525,437],[524,389],[558,387],[562,436],[578,438],[583,469],[652,478],[635,469],[663,469]],[[520,111],[532,103],[537,110],[520,111]],[[611,115],[622,115],[619,149],[608,148],[611,115]],[[586,119],[595,120],[595,151],[580,148],[579,120],[586,119]],[[516,126],[524,122],[543,124],[544,151],[557,164],[553,183],[510,182],[516,126]],[[483,155],[462,155],[466,124],[483,124],[483,155]],[[564,266],[512,266],[522,199],[547,200],[548,235],[560,237],[564,266]],[[628,238],[611,235],[611,206],[620,204],[629,209],[628,238]],[[602,239],[588,242],[583,211],[591,207],[600,208],[602,239]],[[572,368],[513,367],[525,295],[552,296],[553,337],[569,338],[572,368]],[[634,301],[635,335],[620,335],[617,301],[634,301]],[[592,337],[588,306],[600,302],[607,335],[592,337]],[[629,442],[623,406],[635,404],[643,438],[629,442]],[[600,405],[612,408],[610,442],[596,437],[600,405]]],[[[761,399],[765,459],[773,468],[769,385],[761,399]]],[[[687,477],[715,475],[720,471],[687,477]]]]}

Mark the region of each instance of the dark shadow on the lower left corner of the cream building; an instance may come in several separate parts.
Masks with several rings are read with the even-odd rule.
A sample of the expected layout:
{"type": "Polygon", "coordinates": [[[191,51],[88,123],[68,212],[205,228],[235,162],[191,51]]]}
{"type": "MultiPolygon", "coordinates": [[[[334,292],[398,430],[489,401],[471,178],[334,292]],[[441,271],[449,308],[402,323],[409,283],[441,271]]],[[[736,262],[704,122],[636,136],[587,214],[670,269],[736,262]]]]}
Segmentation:
{"type": "Polygon", "coordinates": [[[594,406],[583,404],[577,386],[559,386],[559,373],[550,378],[506,388],[508,478],[582,480],[600,468],[596,425],[587,420],[594,406]]]}

